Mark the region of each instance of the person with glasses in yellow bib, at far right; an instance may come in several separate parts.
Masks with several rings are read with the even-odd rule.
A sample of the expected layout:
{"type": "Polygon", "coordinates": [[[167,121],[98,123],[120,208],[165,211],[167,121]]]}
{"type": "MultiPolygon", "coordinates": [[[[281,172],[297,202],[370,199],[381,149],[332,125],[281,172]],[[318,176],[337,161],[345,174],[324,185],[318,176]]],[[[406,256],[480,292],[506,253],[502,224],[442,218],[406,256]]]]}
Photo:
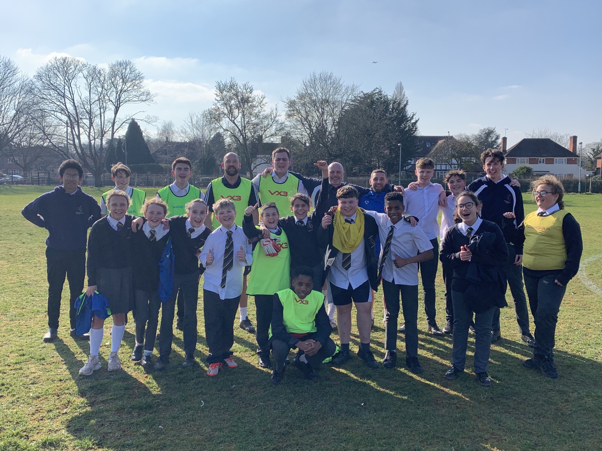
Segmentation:
{"type": "MultiPolygon", "coordinates": [[[[515,238],[517,242],[524,240],[523,275],[535,318],[536,345],[533,357],[523,366],[556,379],[553,349],[558,311],[566,284],[579,271],[583,240],[579,223],[565,210],[562,183],[547,174],[531,186],[538,209],[525,217],[515,238]]],[[[512,213],[504,216],[514,218],[512,213]]]]}

